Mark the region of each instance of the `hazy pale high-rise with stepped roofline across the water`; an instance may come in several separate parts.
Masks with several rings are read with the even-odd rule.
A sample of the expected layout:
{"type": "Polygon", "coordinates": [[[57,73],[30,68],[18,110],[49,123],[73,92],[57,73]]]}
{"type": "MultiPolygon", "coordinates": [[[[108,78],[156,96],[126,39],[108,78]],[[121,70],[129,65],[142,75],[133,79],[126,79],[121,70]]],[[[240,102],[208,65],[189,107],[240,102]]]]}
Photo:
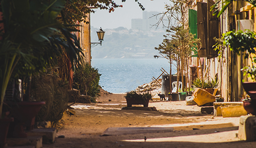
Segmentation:
{"type": "MultiPolygon", "coordinates": [[[[160,12],[157,11],[143,11],[143,16],[141,18],[132,19],[132,29],[139,29],[143,31],[149,31],[152,25],[157,23],[156,17],[152,17],[160,12]]],[[[155,29],[155,28],[152,28],[155,29]]]]}

